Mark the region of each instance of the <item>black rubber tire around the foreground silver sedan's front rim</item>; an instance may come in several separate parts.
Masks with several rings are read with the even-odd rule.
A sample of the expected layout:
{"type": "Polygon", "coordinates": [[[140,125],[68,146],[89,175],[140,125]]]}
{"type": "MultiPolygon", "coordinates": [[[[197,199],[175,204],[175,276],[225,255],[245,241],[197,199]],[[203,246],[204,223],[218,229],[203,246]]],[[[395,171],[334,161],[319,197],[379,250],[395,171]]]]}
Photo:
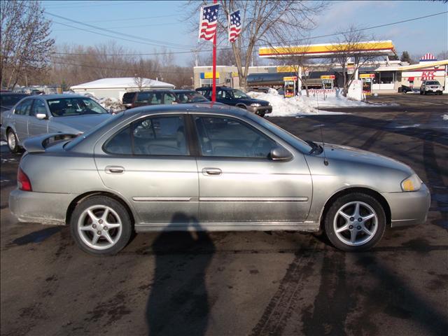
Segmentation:
{"type": "MultiPolygon", "coordinates": [[[[351,206],[349,205],[345,209],[349,209],[349,207],[351,206]]],[[[353,204],[353,207],[355,207],[355,204],[353,204]]],[[[363,209],[364,211],[367,210],[367,207],[365,207],[365,205],[361,205],[360,207],[361,211],[363,211],[363,209]]],[[[359,224],[364,225],[363,222],[359,224]]],[[[340,227],[338,226],[338,228],[342,228],[342,226],[340,227]]],[[[381,239],[381,237],[383,237],[384,231],[386,230],[386,214],[381,204],[374,197],[363,193],[351,193],[339,197],[337,200],[335,200],[335,202],[331,204],[330,209],[328,209],[324,218],[324,229],[325,229],[325,235],[327,235],[328,239],[333,244],[333,246],[335,246],[339,250],[346,252],[366,251],[369,248],[375,246],[381,239]],[[343,210],[342,207],[345,207],[346,204],[351,204],[351,202],[360,202],[361,204],[367,204],[368,207],[370,207],[376,214],[376,225],[373,224],[375,218],[365,221],[365,227],[367,228],[367,226],[370,225],[370,227],[368,227],[367,229],[370,230],[370,232],[372,233],[374,231],[374,233],[371,236],[367,235],[365,232],[363,232],[363,230],[358,229],[361,228],[361,225],[358,226],[357,218],[354,218],[353,222],[351,222],[351,219],[353,217],[351,217],[350,219],[349,218],[346,219],[346,225],[350,225],[351,229],[339,232],[339,237],[342,237],[342,239],[344,239],[344,235],[346,235],[347,232],[349,237],[351,237],[351,231],[356,231],[355,237],[361,238],[360,244],[356,246],[350,245],[350,242],[346,243],[342,241],[342,239],[338,237],[338,234],[335,231],[335,222],[339,223],[338,221],[341,221],[341,219],[344,220],[342,216],[338,215],[338,217],[336,217],[338,211],[343,210]],[[375,227],[376,230],[374,229],[375,227]],[[363,237],[365,237],[364,239],[370,239],[370,240],[365,241],[365,243],[361,244],[363,241],[363,237]]],[[[345,239],[349,240],[348,237],[346,237],[345,239]]]]}

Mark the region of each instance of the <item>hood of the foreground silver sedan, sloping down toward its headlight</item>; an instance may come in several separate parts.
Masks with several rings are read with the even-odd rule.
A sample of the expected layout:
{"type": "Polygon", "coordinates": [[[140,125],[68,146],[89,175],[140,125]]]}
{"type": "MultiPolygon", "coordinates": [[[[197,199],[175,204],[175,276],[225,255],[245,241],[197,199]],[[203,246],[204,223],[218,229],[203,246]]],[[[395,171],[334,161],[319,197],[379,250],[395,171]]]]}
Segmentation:
{"type": "MultiPolygon", "coordinates": [[[[323,153],[321,155],[323,155],[323,153]]],[[[353,164],[363,164],[384,167],[387,169],[395,169],[408,175],[414,173],[411,167],[398,160],[394,160],[384,155],[379,155],[369,151],[363,151],[362,149],[349,146],[325,144],[325,156],[328,159],[353,162],[353,164]]]]}

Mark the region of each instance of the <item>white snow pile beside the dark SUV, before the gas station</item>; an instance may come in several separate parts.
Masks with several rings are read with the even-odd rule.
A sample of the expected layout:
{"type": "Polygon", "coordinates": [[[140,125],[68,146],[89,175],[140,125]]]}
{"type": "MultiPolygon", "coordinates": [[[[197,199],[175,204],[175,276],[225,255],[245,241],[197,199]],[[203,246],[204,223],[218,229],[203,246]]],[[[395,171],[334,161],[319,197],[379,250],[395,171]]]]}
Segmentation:
{"type": "Polygon", "coordinates": [[[283,95],[279,94],[274,89],[269,89],[269,92],[248,92],[250,97],[256,99],[267,100],[272,105],[272,113],[269,116],[283,117],[283,116],[300,116],[300,115],[314,115],[314,114],[329,114],[328,111],[320,111],[318,109],[330,108],[330,107],[356,107],[356,106],[368,106],[365,102],[353,101],[346,99],[342,95],[337,97],[325,97],[325,100],[321,96],[310,97],[307,96],[295,96],[291,98],[283,98],[283,95]]]}

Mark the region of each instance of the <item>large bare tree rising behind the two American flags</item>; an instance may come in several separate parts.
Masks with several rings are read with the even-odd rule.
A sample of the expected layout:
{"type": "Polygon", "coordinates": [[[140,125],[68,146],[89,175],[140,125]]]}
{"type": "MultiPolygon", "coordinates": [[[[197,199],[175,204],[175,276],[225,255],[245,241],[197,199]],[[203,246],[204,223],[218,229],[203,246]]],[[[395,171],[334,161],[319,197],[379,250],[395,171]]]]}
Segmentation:
{"type": "MultiPolygon", "coordinates": [[[[221,15],[218,20],[218,45],[227,44],[227,18],[232,11],[241,12],[241,33],[232,51],[238,69],[239,85],[246,90],[248,67],[251,65],[253,51],[259,44],[279,41],[279,36],[291,39],[302,36],[304,31],[314,27],[314,16],[325,8],[323,1],[297,0],[220,0],[221,15]]],[[[193,30],[197,29],[200,6],[206,1],[190,1],[188,18],[193,30]]],[[[210,48],[210,43],[207,43],[210,48]]],[[[221,47],[222,48],[222,47],[221,47]]]]}

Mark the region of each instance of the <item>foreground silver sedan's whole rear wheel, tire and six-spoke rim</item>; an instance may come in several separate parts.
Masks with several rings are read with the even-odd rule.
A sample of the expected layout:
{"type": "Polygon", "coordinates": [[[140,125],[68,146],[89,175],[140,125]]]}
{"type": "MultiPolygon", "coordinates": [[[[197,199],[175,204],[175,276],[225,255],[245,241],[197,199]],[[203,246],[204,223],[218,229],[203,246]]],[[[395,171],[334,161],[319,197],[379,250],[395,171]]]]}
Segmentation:
{"type": "Polygon", "coordinates": [[[76,206],[70,230],[83,251],[93,255],[113,255],[130,240],[132,223],[120,202],[110,197],[93,196],[76,206]]]}

